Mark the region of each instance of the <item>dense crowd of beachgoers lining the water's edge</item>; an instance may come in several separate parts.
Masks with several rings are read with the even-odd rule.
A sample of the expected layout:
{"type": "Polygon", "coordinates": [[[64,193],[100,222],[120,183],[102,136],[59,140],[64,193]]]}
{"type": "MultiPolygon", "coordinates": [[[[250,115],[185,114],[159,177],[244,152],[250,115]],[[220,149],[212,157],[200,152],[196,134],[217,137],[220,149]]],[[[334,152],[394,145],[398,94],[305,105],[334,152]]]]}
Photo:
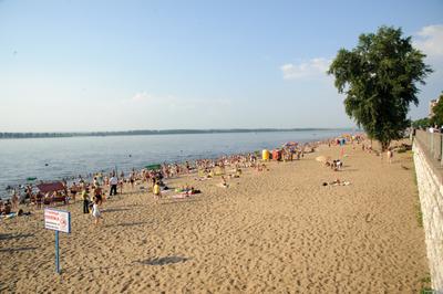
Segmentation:
{"type": "MultiPolygon", "coordinates": [[[[306,153],[312,153],[319,144],[326,141],[310,143],[305,145],[287,144],[279,148],[279,158],[281,161],[291,161],[301,159],[306,153]]],[[[260,159],[260,154],[236,154],[226,155],[219,158],[197,159],[185,162],[164,162],[156,169],[135,169],[127,175],[124,171],[116,170],[109,174],[96,172],[87,177],[71,177],[61,180],[62,189],[42,192],[37,187],[39,185],[23,186],[22,189],[12,189],[11,198],[6,202],[0,200],[0,214],[9,214],[18,210],[19,204],[34,204],[40,209],[44,206],[52,206],[56,202],[76,202],[82,201],[83,213],[91,213],[95,223],[101,219],[101,207],[110,198],[122,195],[126,189],[137,188],[152,193],[154,199],[161,199],[163,193],[169,190],[165,180],[177,178],[184,175],[196,175],[195,179],[205,180],[220,176],[220,183],[217,186],[228,188],[228,179],[239,178],[243,169],[250,168],[257,172],[269,170],[266,164],[260,159]],[[80,199],[79,199],[80,197],[80,199]]],[[[276,159],[276,158],[275,158],[276,159]]],[[[173,198],[185,198],[199,193],[198,189],[190,186],[184,186],[175,189],[177,195],[173,198]]]]}

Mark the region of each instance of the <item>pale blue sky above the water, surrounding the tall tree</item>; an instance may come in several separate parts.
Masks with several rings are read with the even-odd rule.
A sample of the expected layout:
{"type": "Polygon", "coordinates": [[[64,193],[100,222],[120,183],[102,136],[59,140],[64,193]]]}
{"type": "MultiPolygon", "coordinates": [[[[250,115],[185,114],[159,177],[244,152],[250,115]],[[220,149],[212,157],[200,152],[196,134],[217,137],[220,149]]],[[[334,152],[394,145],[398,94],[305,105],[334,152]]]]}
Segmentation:
{"type": "Polygon", "coordinates": [[[443,91],[443,1],[0,0],[0,132],[353,127],[326,71],[401,27],[443,91]]]}

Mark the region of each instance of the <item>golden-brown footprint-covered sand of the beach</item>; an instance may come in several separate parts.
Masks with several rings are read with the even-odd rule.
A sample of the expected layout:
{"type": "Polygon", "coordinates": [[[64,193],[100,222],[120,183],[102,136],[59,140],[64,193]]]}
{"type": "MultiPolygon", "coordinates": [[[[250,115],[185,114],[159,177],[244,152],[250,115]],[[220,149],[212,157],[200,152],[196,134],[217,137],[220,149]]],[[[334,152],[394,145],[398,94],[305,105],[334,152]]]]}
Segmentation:
{"type": "Polygon", "coordinates": [[[315,160],[322,146],[270,171],[182,178],[203,193],[186,200],[126,193],[93,225],[79,201],[72,233],[54,233],[42,211],[0,222],[0,292],[16,293],[418,293],[426,276],[411,155],[389,165],[346,147],[334,172],[315,160]],[[350,186],[322,187],[336,178],[350,186]]]}

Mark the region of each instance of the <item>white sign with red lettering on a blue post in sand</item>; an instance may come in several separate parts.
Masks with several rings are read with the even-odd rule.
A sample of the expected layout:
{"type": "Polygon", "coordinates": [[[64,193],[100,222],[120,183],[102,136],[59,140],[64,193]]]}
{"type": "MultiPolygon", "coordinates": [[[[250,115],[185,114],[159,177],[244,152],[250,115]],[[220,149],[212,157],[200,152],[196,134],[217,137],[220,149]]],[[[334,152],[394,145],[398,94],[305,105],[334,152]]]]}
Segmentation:
{"type": "Polygon", "coordinates": [[[55,231],[55,272],[60,274],[59,232],[71,233],[71,212],[45,208],[44,228],[55,231]]]}

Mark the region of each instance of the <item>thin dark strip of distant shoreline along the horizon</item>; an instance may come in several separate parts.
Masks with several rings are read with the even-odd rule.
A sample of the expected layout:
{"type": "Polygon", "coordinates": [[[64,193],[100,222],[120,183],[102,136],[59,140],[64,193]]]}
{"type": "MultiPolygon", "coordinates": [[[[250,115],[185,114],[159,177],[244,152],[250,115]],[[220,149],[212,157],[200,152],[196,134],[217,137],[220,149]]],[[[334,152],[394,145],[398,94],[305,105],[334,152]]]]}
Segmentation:
{"type": "Polygon", "coordinates": [[[69,132],[69,133],[68,132],[66,133],[0,133],[0,139],[229,134],[229,133],[275,133],[275,132],[313,132],[313,130],[344,132],[353,129],[352,128],[228,128],[228,129],[140,129],[140,130],[121,130],[121,132],[69,132]]]}

